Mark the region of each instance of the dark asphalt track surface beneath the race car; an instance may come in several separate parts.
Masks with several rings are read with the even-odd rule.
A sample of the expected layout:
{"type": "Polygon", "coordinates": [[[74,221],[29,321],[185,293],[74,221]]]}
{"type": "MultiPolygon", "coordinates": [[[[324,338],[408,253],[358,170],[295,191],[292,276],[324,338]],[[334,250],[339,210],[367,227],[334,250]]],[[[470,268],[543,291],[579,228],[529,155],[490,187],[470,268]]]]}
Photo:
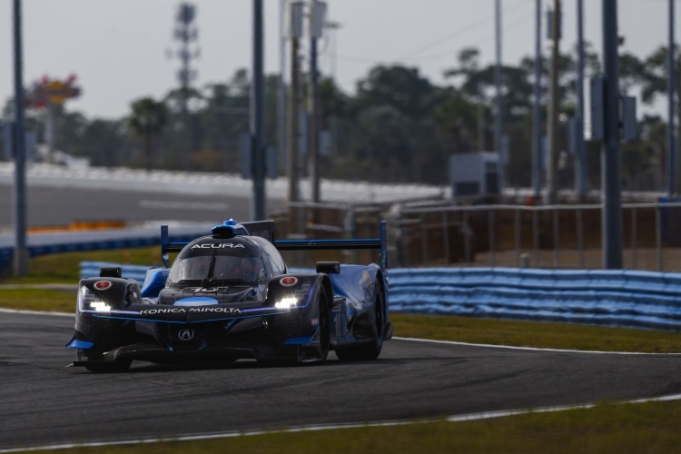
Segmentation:
{"type": "MultiPolygon", "coordinates": [[[[679,355],[392,340],[379,360],[65,367],[73,317],[0,312],[0,449],[419,419],[681,393],[679,355]]],[[[399,333],[397,333],[399,334],[399,333]]]]}

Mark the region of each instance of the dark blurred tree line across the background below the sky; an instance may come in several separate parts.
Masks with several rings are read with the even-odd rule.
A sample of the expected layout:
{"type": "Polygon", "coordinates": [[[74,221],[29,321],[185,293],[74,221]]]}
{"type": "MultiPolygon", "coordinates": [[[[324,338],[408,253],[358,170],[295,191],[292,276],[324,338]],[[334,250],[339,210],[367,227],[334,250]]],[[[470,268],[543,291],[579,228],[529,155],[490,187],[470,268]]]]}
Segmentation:
{"type": "MultiPolygon", "coordinates": [[[[666,54],[660,47],[639,58],[619,56],[621,94],[638,94],[645,104],[666,95],[666,54]]],[[[600,73],[597,55],[587,45],[586,75],[600,73]]],[[[676,58],[676,62],[679,59],[676,58]]],[[[546,119],[548,61],[542,64],[541,92],[546,119]]],[[[678,66],[678,63],[677,63],[678,66]]],[[[568,153],[568,123],[576,112],[575,50],[561,54],[560,187],[571,187],[573,159],[568,153]]],[[[532,162],[534,57],[502,69],[504,133],[508,140],[507,183],[528,187],[532,162]]],[[[677,71],[676,74],[681,74],[677,71]]],[[[445,70],[447,84],[433,84],[415,67],[376,65],[345,93],[331,78],[321,79],[323,178],[385,183],[446,184],[449,155],[494,149],[494,65],[481,64],[479,51],[461,50],[445,70]]],[[[306,92],[307,77],[301,81],[306,92]]],[[[678,85],[678,81],[676,82],[678,85]]],[[[265,78],[265,142],[277,146],[278,74],[265,78]]],[[[681,88],[681,87],[679,87],[681,88]]],[[[131,166],[169,170],[238,173],[243,137],[249,131],[251,80],[246,69],[220,83],[188,92],[176,89],[163,99],[146,97],[131,103],[120,119],[90,119],[58,107],[56,148],[89,158],[94,166],[131,166]],[[184,99],[188,109],[184,109],[184,99]]],[[[681,107],[676,90],[676,105],[681,107]]],[[[301,105],[305,105],[301,103],[301,105]]],[[[12,100],[3,119],[13,116],[12,100]]],[[[27,128],[44,134],[44,113],[29,111],[27,128]]],[[[638,122],[639,139],[622,146],[623,189],[662,190],[666,123],[658,115],[638,122]]],[[[681,141],[679,141],[681,142],[681,141]]],[[[278,153],[278,174],[285,173],[285,153],[278,153]]],[[[681,160],[677,160],[681,161],[681,160]]],[[[591,187],[600,184],[600,145],[587,145],[591,187]]]]}

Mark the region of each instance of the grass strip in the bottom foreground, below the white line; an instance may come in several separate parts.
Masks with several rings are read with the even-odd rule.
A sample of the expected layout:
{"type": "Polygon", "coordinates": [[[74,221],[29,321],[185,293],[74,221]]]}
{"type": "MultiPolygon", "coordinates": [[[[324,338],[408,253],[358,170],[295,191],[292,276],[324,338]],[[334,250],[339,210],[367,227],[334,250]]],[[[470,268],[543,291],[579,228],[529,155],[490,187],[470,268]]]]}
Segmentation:
{"type": "MultiPolygon", "coordinates": [[[[600,403],[587,410],[403,426],[268,433],[248,437],[97,448],[119,452],[451,453],[678,452],[681,403],[600,403]]],[[[67,452],[91,452],[68,449],[67,452]]]]}

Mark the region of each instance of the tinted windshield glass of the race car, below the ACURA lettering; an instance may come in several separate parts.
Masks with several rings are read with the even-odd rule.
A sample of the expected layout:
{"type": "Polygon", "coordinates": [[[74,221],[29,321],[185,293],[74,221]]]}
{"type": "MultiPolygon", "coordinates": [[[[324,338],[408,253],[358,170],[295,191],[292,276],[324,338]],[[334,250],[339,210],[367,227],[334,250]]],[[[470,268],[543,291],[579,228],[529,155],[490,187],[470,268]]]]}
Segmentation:
{"type": "Polygon", "coordinates": [[[173,262],[168,285],[216,286],[252,284],[258,281],[264,265],[248,250],[202,249],[180,256],[173,262]]]}

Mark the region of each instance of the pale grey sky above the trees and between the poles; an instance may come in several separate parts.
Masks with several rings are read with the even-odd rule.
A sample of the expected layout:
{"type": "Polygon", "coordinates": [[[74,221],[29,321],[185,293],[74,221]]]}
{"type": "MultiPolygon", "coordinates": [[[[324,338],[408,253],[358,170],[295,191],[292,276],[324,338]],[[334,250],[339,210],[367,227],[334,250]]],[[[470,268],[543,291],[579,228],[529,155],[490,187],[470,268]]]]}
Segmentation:
{"type": "MultiPolygon", "coordinates": [[[[23,0],[24,83],[44,74],[77,75],[83,94],[68,101],[69,111],[89,118],[119,118],[133,100],[162,98],[178,86],[180,63],[166,54],[180,1],[173,0],[23,0]]],[[[225,83],[252,64],[252,0],[189,0],[196,5],[198,46],[193,62],[196,87],[225,83]]],[[[667,0],[619,0],[622,51],[646,56],[666,45],[667,0]]],[[[553,0],[542,2],[544,12],[553,0]]],[[[13,1],[0,0],[0,102],[14,94],[13,1]]],[[[263,0],[265,72],[280,71],[281,0],[263,0]]],[[[495,59],[494,0],[327,0],[327,20],[338,23],[320,43],[322,74],[347,93],[377,64],[417,67],[431,83],[446,85],[445,69],[459,51],[477,47],[482,64],[495,59]]],[[[502,59],[518,64],[535,49],[535,0],[501,0],[502,59]]],[[[562,0],[562,50],[577,36],[577,0],[562,0]]],[[[584,0],[585,39],[600,54],[602,4],[584,0]]],[[[676,5],[676,21],[681,18],[676,5]]],[[[546,23],[542,49],[548,55],[546,23]]],[[[681,41],[676,31],[676,42],[681,41]]],[[[664,104],[663,104],[664,105],[664,104]]],[[[660,108],[657,105],[656,108],[660,108]]],[[[645,110],[645,108],[644,108],[645,110]]],[[[660,110],[660,113],[662,111],[660,110]]]]}

